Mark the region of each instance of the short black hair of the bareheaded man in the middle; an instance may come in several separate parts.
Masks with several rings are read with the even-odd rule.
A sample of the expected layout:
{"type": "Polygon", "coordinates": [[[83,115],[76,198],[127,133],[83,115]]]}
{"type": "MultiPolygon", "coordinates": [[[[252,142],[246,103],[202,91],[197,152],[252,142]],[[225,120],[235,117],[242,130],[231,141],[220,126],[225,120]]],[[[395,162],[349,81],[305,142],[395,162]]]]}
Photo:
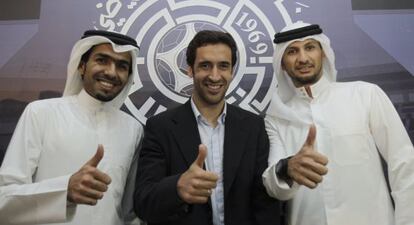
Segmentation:
{"type": "Polygon", "coordinates": [[[217,30],[202,30],[198,32],[193,40],[190,41],[187,47],[187,65],[194,67],[194,62],[197,54],[197,48],[209,44],[225,44],[231,49],[231,66],[234,67],[237,61],[237,45],[233,37],[226,32],[217,30]]]}

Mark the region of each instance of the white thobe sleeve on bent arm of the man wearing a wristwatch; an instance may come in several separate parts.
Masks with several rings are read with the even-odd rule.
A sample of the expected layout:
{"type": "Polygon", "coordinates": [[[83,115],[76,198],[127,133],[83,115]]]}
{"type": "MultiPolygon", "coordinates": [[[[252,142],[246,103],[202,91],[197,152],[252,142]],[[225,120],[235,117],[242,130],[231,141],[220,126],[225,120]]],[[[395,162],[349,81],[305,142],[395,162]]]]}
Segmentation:
{"type": "Polygon", "coordinates": [[[263,184],[266,187],[267,193],[279,200],[289,200],[294,197],[299,185],[293,182],[292,186],[289,186],[283,179],[280,179],[276,175],[276,165],[288,155],[286,148],[284,147],[280,135],[275,125],[275,121],[272,117],[267,116],[265,118],[265,125],[267,135],[269,135],[270,151],[269,151],[269,167],[263,172],[263,184]]]}

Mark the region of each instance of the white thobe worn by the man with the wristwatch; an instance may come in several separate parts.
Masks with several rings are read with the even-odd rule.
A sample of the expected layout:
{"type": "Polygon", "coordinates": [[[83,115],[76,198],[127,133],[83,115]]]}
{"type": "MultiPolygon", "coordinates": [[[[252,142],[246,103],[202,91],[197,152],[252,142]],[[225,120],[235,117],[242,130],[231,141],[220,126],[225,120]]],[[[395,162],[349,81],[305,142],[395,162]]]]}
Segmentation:
{"type": "Polygon", "coordinates": [[[330,83],[322,78],[304,88],[287,106],[316,125],[316,149],[329,159],[328,174],[317,188],[275,173],[276,163],[296,154],[309,126],[268,116],[269,167],[263,173],[268,193],[288,201],[291,225],[414,224],[414,149],[391,101],[376,85],[330,83]],[[378,150],[377,150],[378,149],[378,150]],[[387,162],[393,209],[380,155],[387,162]]]}

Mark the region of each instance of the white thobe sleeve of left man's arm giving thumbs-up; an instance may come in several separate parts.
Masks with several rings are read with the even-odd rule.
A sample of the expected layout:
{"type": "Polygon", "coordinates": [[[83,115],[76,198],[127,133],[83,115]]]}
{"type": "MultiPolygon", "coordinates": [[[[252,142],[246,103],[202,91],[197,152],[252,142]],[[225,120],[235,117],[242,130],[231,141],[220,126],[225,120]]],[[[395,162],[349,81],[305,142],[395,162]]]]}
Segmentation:
{"type": "Polygon", "coordinates": [[[0,224],[63,222],[73,215],[69,175],[33,182],[46,118],[32,104],[20,117],[0,168],[0,224]]]}

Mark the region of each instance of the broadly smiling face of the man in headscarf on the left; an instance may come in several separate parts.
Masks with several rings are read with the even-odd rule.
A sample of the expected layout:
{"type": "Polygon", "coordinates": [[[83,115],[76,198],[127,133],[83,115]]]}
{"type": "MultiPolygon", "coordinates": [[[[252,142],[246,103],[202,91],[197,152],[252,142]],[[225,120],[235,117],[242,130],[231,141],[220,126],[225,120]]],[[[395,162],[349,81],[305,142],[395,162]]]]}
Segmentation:
{"type": "Polygon", "coordinates": [[[128,52],[116,53],[111,44],[101,44],[93,48],[86,63],[79,65],[83,75],[83,87],[92,97],[100,101],[111,101],[124,88],[128,81],[131,55],[128,52]]]}

